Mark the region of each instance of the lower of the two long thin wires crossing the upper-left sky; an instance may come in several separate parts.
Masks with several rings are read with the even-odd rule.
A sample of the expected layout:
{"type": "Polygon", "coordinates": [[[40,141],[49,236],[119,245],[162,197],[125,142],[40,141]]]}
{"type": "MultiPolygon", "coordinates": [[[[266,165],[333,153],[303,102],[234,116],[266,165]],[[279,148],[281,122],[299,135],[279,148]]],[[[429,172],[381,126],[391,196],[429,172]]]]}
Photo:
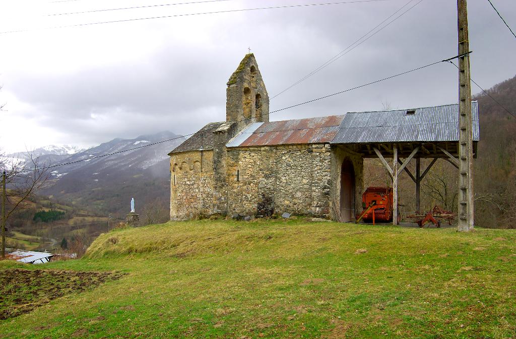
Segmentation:
{"type": "MultiPolygon", "coordinates": [[[[212,12],[173,14],[173,15],[170,15],[170,16],[159,16],[159,17],[147,17],[147,18],[134,18],[134,19],[121,19],[121,20],[111,20],[111,21],[88,22],[88,23],[75,24],[75,25],[63,25],[63,26],[44,27],[44,28],[41,28],[41,29],[58,29],[58,28],[91,26],[91,25],[120,23],[120,22],[131,22],[131,21],[140,21],[140,20],[166,19],[166,18],[177,18],[177,17],[190,17],[190,16],[205,15],[205,14],[234,13],[234,12],[244,12],[244,11],[253,11],[253,10],[265,10],[265,9],[294,8],[294,7],[313,7],[313,6],[342,5],[342,4],[356,4],[356,3],[373,3],[373,2],[380,2],[380,1],[390,1],[390,0],[354,0],[354,1],[342,1],[342,2],[335,2],[335,3],[287,5],[287,6],[272,6],[272,7],[244,8],[244,9],[228,9],[228,10],[212,11],[212,12]]],[[[21,33],[21,32],[29,32],[29,31],[30,31],[30,29],[10,30],[10,31],[6,31],[6,32],[0,32],[0,34],[21,33]]]]}

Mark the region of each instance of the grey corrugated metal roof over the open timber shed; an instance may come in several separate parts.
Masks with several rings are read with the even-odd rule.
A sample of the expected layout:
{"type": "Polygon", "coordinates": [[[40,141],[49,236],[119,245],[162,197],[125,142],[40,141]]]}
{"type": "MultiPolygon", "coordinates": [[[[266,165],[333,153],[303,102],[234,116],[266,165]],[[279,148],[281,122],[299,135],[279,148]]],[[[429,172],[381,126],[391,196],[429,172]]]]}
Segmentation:
{"type": "MultiPolygon", "coordinates": [[[[459,141],[459,104],[411,110],[350,112],[332,144],[459,141]]],[[[478,141],[478,103],[472,102],[473,140],[478,141]]]]}

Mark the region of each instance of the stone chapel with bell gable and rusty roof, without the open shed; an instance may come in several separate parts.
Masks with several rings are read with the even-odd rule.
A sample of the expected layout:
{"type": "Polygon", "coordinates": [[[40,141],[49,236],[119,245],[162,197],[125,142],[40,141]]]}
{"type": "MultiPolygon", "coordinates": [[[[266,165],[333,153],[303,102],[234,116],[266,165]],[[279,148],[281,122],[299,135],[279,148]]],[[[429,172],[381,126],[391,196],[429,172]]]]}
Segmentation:
{"type": "Polygon", "coordinates": [[[269,121],[253,54],[227,87],[226,120],[169,153],[170,217],[289,212],[351,221],[361,207],[363,158],[333,146],[343,116],[269,121]]]}

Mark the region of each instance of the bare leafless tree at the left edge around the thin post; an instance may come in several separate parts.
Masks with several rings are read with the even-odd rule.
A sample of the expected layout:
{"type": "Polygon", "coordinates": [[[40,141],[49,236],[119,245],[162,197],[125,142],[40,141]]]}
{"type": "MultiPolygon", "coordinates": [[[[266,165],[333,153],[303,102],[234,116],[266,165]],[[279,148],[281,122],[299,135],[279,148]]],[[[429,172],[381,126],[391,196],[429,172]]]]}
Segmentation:
{"type": "MultiPolygon", "coordinates": [[[[6,202],[2,218],[2,257],[5,257],[5,226],[7,220],[15,213],[30,206],[29,201],[49,178],[48,165],[40,161],[34,152],[27,152],[25,163],[9,160],[0,154],[0,168],[5,173],[6,202]]],[[[0,204],[3,204],[0,201],[0,204]]]]}

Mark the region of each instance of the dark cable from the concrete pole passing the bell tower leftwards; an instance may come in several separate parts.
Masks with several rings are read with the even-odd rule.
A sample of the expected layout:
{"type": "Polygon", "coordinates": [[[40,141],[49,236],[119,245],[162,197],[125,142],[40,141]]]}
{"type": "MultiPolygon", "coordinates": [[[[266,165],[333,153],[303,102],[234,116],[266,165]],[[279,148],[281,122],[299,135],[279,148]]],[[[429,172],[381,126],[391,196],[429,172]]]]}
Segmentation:
{"type": "MultiPolygon", "coordinates": [[[[469,54],[469,53],[467,53],[467,54],[469,54]]],[[[263,115],[269,115],[269,114],[272,114],[272,113],[285,111],[285,110],[291,109],[293,107],[297,107],[297,106],[301,106],[301,105],[304,105],[304,104],[307,104],[307,103],[311,103],[311,102],[314,102],[314,101],[318,101],[318,100],[326,99],[326,98],[329,98],[329,97],[333,97],[333,96],[336,96],[338,94],[343,94],[343,93],[346,93],[346,92],[349,92],[349,91],[352,91],[352,90],[355,90],[355,89],[359,89],[359,88],[362,88],[362,87],[373,85],[373,84],[376,84],[376,83],[379,83],[379,82],[382,82],[382,81],[385,81],[385,80],[393,79],[393,78],[396,78],[397,76],[404,75],[404,74],[407,74],[407,73],[411,73],[411,72],[414,72],[414,71],[417,71],[417,70],[421,70],[423,68],[427,68],[427,67],[430,67],[430,66],[433,66],[433,65],[437,65],[439,63],[448,62],[449,60],[456,59],[456,58],[458,58],[460,56],[461,55],[454,56],[454,57],[451,57],[451,58],[448,58],[448,59],[444,59],[444,60],[440,60],[440,61],[436,61],[434,63],[428,64],[428,65],[425,65],[425,66],[421,66],[421,67],[417,67],[417,68],[413,68],[411,70],[408,70],[408,71],[405,71],[405,72],[401,72],[401,73],[398,73],[398,74],[394,74],[394,75],[388,76],[388,77],[383,78],[383,79],[379,79],[379,80],[376,80],[376,81],[373,81],[373,82],[369,82],[369,83],[366,83],[366,84],[363,84],[363,85],[360,85],[360,86],[356,86],[356,87],[353,87],[353,88],[348,88],[348,89],[345,89],[345,90],[342,90],[342,91],[338,91],[336,93],[329,94],[329,95],[326,95],[324,97],[319,97],[319,98],[308,100],[308,101],[304,101],[304,102],[301,102],[301,103],[298,103],[298,104],[295,104],[295,105],[283,107],[282,109],[279,109],[279,110],[276,110],[276,111],[271,111],[271,112],[265,113],[263,115]]],[[[243,120],[238,120],[238,121],[233,121],[233,122],[243,122],[243,121],[247,121],[247,120],[249,120],[249,119],[243,119],[243,120]]],[[[171,138],[171,139],[168,139],[168,140],[163,140],[163,141],[159,141],[159,142],[155,142],[155,143],[151,143],[151,144],[147,144],[147,145],[143,145],[143,146],[138,146],[138,147],[134,147],[134,148],[130,148],[130,149],[120,150],[120,151],[117,151],[117,152],[112,152],[112,153],[108,153],[108,154],[101,155],[101,156],[95,156],[95,157],[91,157],[89,159],[76,160],[76,161],[71,161],[71,162],[57,164],[57,165],[51,165],[51,166],[45,167],[45,169],[46,168],[52,168],[52,167],[58,167],[58,166],[64,166],[64,165],[70,165],[70,164],[74,164],[74,163],[78,163],[78,162],[83,162],[83,161],[89,161],[89,160],[92,160],[92,159],[108,157],[108,156],[116,155],[116,154],[123,153],[123,152],[132,151],[132,150],[143,148],[143,147],[149,147],[149,146],[153,146],[153,145],[157,145],[157,144],[166,143],[166,142],[169,142],[169,141],[177,140],[177,139],[185,137],[185,136],[191,136],[191,135],[196,134],[196,133],[190,133],[190,134],[186,134],[186,135],[183,135],[183,136],[174,137],[174,138],[171,138]]],[[[20,173],[34,172],[34,171],[38,171],[38,169],[43,169],[43,168],[29,169],[27,171],[22,171],[20,173]]]]}

